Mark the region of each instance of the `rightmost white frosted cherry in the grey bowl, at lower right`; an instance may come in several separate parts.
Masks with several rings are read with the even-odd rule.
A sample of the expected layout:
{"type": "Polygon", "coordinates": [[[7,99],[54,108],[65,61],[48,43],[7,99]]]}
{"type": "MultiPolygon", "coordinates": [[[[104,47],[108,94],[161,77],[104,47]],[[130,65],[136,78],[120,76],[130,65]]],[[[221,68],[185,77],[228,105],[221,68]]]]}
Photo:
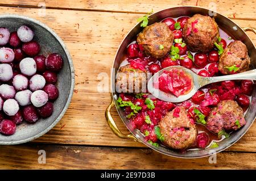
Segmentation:
{"type": "Polygon", "coordinates": [[[35,107],[42,107],[47,103],[48,95],[45,91],[37,90],[31,94],[30,100],[35,107]]]}

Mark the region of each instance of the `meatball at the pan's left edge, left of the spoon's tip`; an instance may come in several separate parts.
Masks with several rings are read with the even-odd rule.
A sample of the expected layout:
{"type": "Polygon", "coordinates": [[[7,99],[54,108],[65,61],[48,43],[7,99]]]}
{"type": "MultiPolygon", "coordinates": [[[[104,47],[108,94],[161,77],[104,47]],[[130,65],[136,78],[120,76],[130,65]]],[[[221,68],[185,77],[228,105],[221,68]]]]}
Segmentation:
{"type": "Polygon", "coordinates": [[[115,90],[121,92],[146,92],[147,71],[134,69],[130,64],[121,66],[116,75],[115,90]]]}

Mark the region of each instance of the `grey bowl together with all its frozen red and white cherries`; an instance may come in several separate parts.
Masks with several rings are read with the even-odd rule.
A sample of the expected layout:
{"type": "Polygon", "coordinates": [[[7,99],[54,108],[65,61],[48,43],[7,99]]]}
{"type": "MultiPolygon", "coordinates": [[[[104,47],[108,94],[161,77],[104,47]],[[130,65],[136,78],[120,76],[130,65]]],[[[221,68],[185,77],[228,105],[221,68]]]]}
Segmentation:
{"type": "Polygon", "coordinates": [[[47,26],[0,16],[0,144],[34,140],[64,115],[73,92],[72,60],[47,26]]]}

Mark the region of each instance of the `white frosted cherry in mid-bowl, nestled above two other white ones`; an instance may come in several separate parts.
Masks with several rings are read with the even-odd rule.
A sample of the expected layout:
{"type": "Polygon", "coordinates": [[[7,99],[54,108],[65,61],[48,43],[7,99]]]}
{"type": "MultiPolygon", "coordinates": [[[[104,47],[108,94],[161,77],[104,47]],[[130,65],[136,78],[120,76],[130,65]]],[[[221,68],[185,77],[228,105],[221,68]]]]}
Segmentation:
{"type": "Polygon", "coordinates": [[[33,58],[24,58],[19,62],[19,69],[24,75],[34,75],[36,73],[36,62],[33,58]]]}

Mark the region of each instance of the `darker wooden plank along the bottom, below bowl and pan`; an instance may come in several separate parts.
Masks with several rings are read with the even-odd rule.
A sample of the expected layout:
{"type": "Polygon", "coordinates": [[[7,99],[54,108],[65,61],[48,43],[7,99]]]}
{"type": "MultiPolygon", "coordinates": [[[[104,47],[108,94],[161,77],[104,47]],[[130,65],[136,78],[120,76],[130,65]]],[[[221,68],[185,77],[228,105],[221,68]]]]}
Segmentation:
{"type": "Polygon", "coordinates": [[[256,169],[255,162],[255,153],[222,152],[209,163],[209,157],[181,159],[151,149],[19,145],[0,151],[1,169],[256,169]],[[45,164],[38,163],[39,150],[46,151],[45,164]]]}

